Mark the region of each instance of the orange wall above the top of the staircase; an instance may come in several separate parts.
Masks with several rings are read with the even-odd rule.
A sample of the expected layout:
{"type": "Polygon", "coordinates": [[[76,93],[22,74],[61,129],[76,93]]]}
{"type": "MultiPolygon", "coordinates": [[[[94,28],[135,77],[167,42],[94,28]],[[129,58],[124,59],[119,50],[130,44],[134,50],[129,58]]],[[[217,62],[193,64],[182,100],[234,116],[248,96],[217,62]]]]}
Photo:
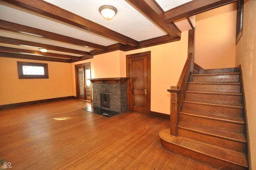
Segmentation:
{"type": "Polygon", "coordinates": [[[235,67],[236,3],[196,15],[195,63],[204,69],[235,67]]]}

